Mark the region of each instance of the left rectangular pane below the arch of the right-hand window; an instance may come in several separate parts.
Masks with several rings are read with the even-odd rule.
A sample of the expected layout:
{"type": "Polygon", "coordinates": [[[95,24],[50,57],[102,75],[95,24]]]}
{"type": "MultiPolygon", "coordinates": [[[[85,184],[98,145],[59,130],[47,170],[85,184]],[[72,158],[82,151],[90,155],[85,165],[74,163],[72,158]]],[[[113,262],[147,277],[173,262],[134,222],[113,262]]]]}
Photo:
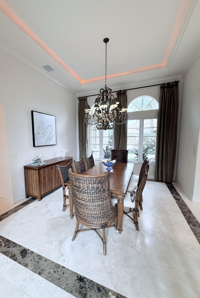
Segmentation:
{"type": "Polygon", "coordinates": [[[128,120],[127,150],[128,160],[138,160],[140,120],[128,120]]]}

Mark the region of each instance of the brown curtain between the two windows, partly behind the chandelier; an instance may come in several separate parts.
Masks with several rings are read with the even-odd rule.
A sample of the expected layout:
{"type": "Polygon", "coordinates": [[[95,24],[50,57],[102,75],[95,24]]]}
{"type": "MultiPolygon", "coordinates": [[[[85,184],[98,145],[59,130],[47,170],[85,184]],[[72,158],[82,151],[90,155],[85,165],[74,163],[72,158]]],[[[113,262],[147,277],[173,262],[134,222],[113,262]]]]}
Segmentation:
{"type": "MultiPolygon", "coordinates": [[[[126,90],[117,91],[117,99],[119,101],[119,106],[127,105],[127,95],[126,90]]],[[[117,118],[117,122],[120,120],[117,118]]],[[[127,122],[123,124],[116,124],[114,131],[114,148],[115,149],[127,149],[127,122]]]]}

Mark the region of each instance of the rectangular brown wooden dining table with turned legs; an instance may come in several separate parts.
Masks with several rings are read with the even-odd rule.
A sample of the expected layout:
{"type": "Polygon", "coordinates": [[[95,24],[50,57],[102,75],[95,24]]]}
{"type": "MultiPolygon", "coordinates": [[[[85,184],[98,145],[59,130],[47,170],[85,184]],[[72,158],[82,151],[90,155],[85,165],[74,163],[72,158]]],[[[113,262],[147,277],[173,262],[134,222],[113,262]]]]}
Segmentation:
{"type": "MultiPolygon", "coordinates": [[[[112,197],[118,198],[118,231],[122,233],[123,223],[123,199],[127,193],[128,184],[133,173],[134,163],[122,163],[116,162],[112,167],[112,170],[106,170],[103,162],[96,164],[87,171],[83,172],[82,175],[99,175],[103,173],[110,173],[110,193],[112,197]]],[[[73,218],[73,195],[70,182],[66,183],[69,189],[69,209],[70,217],[73,218]]]]}

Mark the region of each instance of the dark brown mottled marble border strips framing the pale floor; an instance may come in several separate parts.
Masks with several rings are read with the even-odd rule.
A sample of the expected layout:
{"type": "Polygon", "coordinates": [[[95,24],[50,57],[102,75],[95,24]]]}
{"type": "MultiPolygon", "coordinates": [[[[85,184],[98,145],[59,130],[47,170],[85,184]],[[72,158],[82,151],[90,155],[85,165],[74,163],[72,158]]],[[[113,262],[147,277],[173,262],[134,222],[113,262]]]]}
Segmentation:
{"type": "MultiPolygon", "coordinates": [[[[183,198],[181,198],[173,184],[166,182],[166,185],[200,244],[200,223],[184,202],[183,198]]],[[[35,200],[37,199],[30,198],[26,202],[12,208],[6,213],[3,213],[0,215],[0,221],[35,200]]],[[[116,293],[113,290],[94,282],[93,280],[79,275],[78,273],[61,266],[7,238],[4,238],[3,236],[0,236],[0,253],[77,298],[126,298],[125,296],[116,293]]]]}

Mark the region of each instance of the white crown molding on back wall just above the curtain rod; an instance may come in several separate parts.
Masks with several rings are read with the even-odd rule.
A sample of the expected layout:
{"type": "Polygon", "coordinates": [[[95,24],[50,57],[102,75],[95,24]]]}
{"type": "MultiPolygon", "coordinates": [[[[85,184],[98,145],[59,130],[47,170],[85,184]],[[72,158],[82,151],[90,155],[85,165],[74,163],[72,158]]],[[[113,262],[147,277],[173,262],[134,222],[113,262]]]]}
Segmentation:
{"type": "MultiPolygon", "coordinates": [[[[173,75],[173,76],[168,76],[168,77],[162,77],[158,79],[151,79],[151,80],[145,80],[145,81],[140,81],[140,82],[134,82],[130,84],[124,84],[124,85],[117,85],[117,86],[111,86],[110,88],[114,92],[117,90],[124,90],[124,89],[132,89],[132,88],[140,88],[140,87],[148,87],[150,85],[157,85],[157,84],[163,84],[166,82],[171,82],[171,81],[182,81],[183,76],[182,75],[173,75]]],[[[82,91],[78,92],[76,94],[77,97],[79,96],[92,96],[92,95],[98,95],[99,94],[99,89],[93,89],[90,91],[82,91]]]]}

